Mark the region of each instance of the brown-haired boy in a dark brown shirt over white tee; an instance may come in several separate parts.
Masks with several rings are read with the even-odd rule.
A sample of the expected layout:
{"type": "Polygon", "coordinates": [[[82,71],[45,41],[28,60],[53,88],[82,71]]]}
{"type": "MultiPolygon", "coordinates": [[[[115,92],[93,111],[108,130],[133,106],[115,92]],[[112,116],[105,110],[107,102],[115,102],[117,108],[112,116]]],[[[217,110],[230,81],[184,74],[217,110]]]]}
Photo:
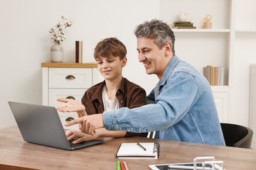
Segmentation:
{"type": "MultiPolygon", "coordinates": [[[[104,81],[89,88],[81,103],[72,99],[59,98],[57,101],[66,103],[56,107],[60,112],[77,112],[79,117],[98,114],[108,110],[116,110],[121,107],[130,109],[146,104],[146,92],[143,88],[129,82],[122,76],[122,69],[127,63],[127,50],[125,45],[116,38],[108,38],[98,42],[95,47],[95,60],[98,71],[104,77],[104,81]]],[[[108,131],[104,127],[97,129],[95,135],[82,133],[80,130],[68,130],[68,140],[78,138],[73,143],[91,141],[100,137],[146,137],[148,133],[129,133],[126,131],[108,131]]]]}

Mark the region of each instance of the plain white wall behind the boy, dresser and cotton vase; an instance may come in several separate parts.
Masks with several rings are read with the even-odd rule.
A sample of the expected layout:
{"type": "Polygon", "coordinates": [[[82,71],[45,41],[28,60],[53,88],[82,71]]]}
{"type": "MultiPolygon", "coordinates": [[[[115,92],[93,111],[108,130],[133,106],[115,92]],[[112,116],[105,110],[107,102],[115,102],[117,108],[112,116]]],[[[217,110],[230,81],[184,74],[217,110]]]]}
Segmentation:
{"type": "Polygon", "coordinates": [[[41,63],[49,61],[51,34],[62,14],[74,18],[66,29],[64,61],[75,61],[75,41],[92,46],[117,37],[127,46],[123,76],[150,92],[158,79],[137,59],[136,25],[159,16],[156,0],[0,0],[0,128],[16,125],[8,101],[41,104],[41,63]]]}

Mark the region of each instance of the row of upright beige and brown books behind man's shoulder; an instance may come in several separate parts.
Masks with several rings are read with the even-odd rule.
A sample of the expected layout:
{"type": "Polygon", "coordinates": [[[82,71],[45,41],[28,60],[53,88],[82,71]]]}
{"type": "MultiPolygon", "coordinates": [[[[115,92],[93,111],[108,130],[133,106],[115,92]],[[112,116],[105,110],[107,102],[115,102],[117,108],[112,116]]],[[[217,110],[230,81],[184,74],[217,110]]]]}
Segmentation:
{"type": "Polygon", "coordinates": [[[224,67],[207,65],[206,67],[203,67],[203,75],[211,86],[224,85],[224,67]]]}

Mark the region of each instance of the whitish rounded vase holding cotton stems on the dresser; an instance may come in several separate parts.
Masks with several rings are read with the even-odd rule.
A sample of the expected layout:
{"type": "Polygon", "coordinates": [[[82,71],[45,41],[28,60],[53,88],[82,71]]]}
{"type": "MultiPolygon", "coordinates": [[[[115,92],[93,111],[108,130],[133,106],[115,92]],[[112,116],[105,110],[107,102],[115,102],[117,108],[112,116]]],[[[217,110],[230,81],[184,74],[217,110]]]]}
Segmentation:
{"type": "Polygon", "coordinates": [[[63,47],[57,42],[51,46],[51,62],[62,63],[64,59],[63,47]]]}

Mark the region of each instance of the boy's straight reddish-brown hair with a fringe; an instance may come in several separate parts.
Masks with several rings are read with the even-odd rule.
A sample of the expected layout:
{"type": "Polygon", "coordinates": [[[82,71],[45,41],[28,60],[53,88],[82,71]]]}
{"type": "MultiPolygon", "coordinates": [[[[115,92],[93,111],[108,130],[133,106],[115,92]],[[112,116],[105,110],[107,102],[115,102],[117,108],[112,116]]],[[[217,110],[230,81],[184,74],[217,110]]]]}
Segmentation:
{"type": "Polygon", "coordinates": [[[123,59],[126,57],[127,50],[125,45],[115,37],[104,39],[95,47],[95,59],[108,58],[110,56],[123,59]]]}

